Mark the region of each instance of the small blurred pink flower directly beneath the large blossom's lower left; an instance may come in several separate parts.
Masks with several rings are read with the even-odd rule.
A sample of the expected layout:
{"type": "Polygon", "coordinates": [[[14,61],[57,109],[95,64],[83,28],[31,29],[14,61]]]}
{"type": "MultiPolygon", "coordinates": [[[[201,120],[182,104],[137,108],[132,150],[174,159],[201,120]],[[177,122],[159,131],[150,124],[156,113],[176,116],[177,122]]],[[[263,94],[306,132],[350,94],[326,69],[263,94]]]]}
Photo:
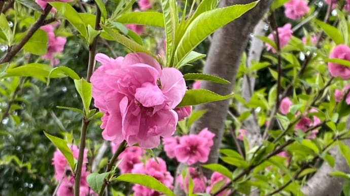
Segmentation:
{"type": "Polygon", "coordinates": [[[122,162],[118,165],[122,174],[131,173],[133,167],[137,163],[141,163],[140,158],[145,153],[142,148],[138,146],[130,146],[126,148],[118,157],[122,162]]]}

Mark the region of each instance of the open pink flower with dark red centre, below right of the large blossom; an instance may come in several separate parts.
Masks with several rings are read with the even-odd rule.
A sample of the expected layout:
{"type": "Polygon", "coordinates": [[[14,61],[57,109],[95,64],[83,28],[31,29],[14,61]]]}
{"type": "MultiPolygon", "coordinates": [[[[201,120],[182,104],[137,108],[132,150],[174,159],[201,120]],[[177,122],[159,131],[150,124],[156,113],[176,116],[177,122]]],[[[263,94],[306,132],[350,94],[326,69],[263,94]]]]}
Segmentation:
{"type": "Polygon", "coordinates": [[[198,134],[167,137],[163,139],[164,151],[166,156],[176,158],[181,163],[205,163],[214,144],[214,136],[214,133],[204,128],[198,134]]]}

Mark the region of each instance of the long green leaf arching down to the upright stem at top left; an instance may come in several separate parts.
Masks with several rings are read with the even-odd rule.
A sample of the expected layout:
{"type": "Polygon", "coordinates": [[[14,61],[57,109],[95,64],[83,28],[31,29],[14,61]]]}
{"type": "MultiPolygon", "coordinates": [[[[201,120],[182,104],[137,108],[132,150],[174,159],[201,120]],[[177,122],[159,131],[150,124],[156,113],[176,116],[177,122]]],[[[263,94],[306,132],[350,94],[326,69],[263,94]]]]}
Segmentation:
{"type": "Polygon", "coordinates": [[[69,21],[83,37],[87,37],[87,30],[83,19],[80,17],[78,12],[69,4],[62,2],[49,2],[57,12],[61,13],[64,18],[69,21]]]}

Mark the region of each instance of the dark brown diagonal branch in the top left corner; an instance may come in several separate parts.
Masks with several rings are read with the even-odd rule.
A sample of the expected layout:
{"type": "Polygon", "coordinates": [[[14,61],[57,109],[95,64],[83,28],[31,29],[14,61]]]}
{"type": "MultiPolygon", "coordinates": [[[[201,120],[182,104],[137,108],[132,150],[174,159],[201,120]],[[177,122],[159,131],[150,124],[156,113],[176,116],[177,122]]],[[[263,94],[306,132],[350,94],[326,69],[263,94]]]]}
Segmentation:
{"type": "Polygon", "coordinates": [[[29,28],[27,34],[24,35],[22,40],[11,47],[10,51],[6,54],[6,56],[0,60],[0,64],[10,62],[11,59],[22,49],[22,47],[30,39],[30,37],[43,25],[45,18],[51,11],[51,8],[52,6],[50,4],[46,6],[44,14],[42,14],[38,18],[38,20],[29,28]]]}

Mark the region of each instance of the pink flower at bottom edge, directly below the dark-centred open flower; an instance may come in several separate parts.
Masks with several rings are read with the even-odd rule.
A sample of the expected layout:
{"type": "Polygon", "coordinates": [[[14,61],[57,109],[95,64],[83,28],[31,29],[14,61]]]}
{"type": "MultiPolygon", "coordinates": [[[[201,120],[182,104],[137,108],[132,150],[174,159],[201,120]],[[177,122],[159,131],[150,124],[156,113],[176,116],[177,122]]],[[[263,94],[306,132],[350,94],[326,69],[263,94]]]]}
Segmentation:
{"type": "Polygon", "coordinates": [[[179,183],[180,188],[183,189],[186,193],[188,193],[189,188],[189,174],[193,180],[193,192],[199,193],[204,192],[206,187],[206,177],[200,174],[194,167],[188,168],[188,173],[185,176],[185,179],[182,177],[182,174],[176,177],[176,181],[179,183]],[[185,184],[185,185],[184,185],[185,184]],[[186,187],[185,187],[186,186],[186,187]]]}

